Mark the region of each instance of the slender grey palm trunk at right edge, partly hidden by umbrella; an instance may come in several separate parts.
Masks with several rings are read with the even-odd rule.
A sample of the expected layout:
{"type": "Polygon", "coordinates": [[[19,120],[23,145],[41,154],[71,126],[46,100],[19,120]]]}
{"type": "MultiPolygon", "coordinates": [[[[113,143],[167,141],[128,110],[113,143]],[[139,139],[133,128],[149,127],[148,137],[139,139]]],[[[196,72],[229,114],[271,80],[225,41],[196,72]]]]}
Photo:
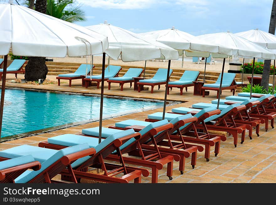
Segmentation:
{"type": "MultiPolygon", "coordinates": [[[[275,34],[276,28],[276,0],[273,0],[268,33],[275,34]]],[[[264,60],[261,86],[268,90],[271,60],[264,60]]]]}

